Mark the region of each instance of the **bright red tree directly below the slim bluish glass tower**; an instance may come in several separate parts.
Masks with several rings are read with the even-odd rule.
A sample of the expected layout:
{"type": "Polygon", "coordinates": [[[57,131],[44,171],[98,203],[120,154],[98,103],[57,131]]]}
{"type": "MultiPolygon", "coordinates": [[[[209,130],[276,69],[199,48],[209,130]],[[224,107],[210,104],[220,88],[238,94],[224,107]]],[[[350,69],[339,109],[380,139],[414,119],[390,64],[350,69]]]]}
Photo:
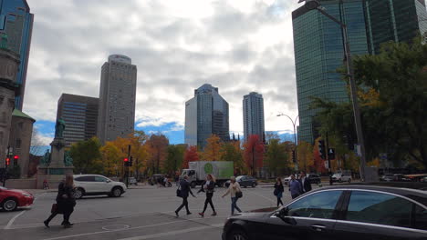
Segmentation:
{"type": "Polygon", "coordinates": [[[264,144],[258,135],[250,135],[244,144],[244,159],[251,175],[255,175],[256,168],[263,166],[264,144]]]}

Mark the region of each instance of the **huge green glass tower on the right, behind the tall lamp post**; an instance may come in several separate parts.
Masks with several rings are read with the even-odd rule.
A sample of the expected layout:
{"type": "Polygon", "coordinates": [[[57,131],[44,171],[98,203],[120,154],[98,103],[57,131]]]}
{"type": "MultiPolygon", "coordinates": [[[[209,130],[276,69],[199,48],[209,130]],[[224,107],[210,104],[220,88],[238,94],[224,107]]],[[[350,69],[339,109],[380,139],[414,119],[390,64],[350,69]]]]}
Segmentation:
{"type": "MultiPolygon", "coordinates": [[[[328,14],[346,23],[352,55],[379,53],[387,41],[411,41],[426,32],[424,0],[320,0],[328,14]]],[[[317,109],[311,96],[348,102],[347,85],[336,73],[343,65],[344,50],[339,25],[318,11],[299,7],[292,13],[297,74],[300,141],[313,143],[317,109]]]]}

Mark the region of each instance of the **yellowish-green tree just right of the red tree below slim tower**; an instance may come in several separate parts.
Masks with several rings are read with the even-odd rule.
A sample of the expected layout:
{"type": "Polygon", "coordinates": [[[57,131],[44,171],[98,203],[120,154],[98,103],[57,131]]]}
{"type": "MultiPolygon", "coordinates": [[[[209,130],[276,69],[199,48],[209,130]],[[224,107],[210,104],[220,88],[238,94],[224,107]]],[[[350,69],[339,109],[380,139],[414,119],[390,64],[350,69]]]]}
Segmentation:
{"type": "Polygon", "coordinates": [[[265,163],[270,173],[282,175],[288,168],[288,155],[285,145],[279,143],[278,139],[271,139],[267,147],[265,163]]]}

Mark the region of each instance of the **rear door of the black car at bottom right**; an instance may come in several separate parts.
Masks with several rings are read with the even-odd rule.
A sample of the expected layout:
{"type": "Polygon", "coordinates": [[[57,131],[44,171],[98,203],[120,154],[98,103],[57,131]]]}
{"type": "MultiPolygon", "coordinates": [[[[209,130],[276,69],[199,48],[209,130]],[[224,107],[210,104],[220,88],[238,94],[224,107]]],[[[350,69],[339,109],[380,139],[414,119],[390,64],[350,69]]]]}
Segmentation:
{"type": "Polygon", "coordinates": [[[427,211],[400,195],[369,190],[349,191],[335,226],[346,240],[426,239],[427,211]]]}

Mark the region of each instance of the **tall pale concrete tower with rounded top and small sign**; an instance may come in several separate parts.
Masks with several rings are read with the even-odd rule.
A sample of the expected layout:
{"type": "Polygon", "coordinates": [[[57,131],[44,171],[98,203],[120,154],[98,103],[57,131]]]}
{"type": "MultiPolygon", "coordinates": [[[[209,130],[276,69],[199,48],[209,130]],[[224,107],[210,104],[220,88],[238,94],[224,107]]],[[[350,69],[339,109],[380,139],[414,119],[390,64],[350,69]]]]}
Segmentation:
{"type": "Polygon", "coordinates": [[[133,132],[136,81],[137,67],[128,56],[110,55],[102,65],[97,135],[103,144],[133,132]]]}

